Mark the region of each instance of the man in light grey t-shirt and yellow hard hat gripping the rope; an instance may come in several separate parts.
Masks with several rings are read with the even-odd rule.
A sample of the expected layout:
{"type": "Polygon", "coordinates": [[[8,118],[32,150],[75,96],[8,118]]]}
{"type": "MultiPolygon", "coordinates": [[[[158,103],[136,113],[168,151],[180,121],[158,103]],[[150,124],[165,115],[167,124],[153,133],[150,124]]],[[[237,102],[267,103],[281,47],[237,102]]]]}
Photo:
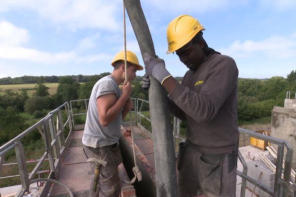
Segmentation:
{"type": "MultiPolygon", "coordinates": [[[[91,183],[90,197],[118,197],[120,179],[118,165],[122,162],[118,140],[122,119],[133,109],[130,99],[132,81],[136,71],[143,70],[139,60],[131,51],[126,52],[127,69],[124,67],[124,51],[118,52],[111,65],[111,75],[101,78],[94,85],[90,98],[82,143],[87,158],[98,158],[107,162],[101,165],[98,189],[93,192],[91,183]],[[125,81],[125,72],[127,81],[125,81]],[[119,84],[123,83],[121,90],[119,84]]],[[[92,166],[94,169],[94,166],[92,166]]]]}

